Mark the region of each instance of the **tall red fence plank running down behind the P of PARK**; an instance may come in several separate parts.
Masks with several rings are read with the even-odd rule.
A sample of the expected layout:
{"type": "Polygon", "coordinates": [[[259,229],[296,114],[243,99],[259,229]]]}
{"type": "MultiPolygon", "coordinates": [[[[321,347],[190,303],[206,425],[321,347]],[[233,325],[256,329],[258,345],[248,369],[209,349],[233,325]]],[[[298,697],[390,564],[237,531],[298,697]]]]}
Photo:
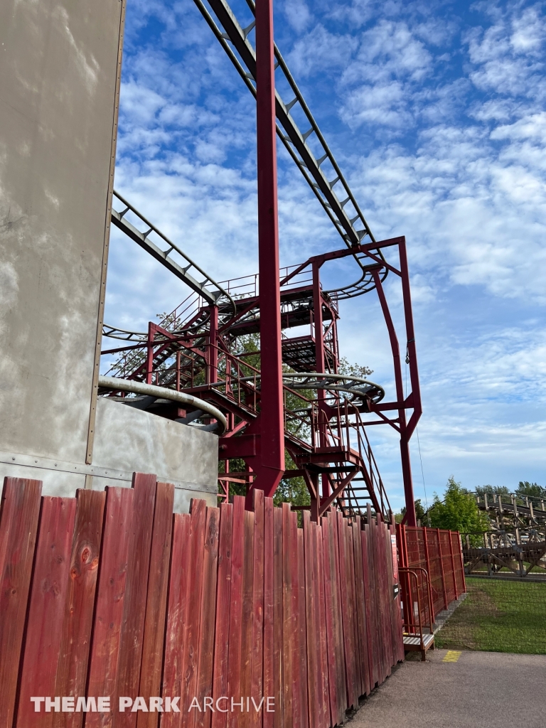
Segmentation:
{"type": "Polygon", "coordinates": [[[146,597],[150,569],[151,529],[154,522],[156,476],[135,472],[132,477],[133,517],[129,545],[129,563],[125,580],[122,631],[119,638],[119,662],[116,678],[115,706],[112,716],[114,728],[134,728],[137,713],[117,710],[119,696],[141,695],[138,689],[141,677],[142,643],[146,619],[146,597]]]}

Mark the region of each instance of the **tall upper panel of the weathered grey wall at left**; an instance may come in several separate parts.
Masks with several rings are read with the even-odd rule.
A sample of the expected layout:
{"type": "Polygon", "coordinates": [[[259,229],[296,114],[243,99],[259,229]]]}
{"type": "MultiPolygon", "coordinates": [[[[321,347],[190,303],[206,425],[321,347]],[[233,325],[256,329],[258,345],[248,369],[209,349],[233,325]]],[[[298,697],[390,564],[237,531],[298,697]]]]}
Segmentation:
{"type": "Polygon", "coordinates": [[[0,3],[0,449],[84,462],[120,0],[0,3]]]}

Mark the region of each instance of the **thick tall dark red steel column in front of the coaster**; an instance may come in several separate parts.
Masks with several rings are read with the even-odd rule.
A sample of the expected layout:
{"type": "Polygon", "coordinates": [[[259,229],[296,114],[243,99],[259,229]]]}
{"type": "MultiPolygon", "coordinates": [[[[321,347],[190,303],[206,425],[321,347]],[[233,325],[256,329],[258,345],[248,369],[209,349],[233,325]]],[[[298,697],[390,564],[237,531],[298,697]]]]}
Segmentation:
{"type": "Polygon", "coordinates": [[[258,264],[260,273],[261,462],[248,489],[272,496],[285,470],[280,329],[279,227],[272,0],[256,2],[256,136],[258,142],[258,264]]]}

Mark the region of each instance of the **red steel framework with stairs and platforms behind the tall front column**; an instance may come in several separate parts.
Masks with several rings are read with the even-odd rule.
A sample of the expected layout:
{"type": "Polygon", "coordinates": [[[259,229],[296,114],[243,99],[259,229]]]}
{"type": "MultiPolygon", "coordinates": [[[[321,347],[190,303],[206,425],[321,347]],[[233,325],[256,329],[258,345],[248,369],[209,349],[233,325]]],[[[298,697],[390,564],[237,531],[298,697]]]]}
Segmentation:
{"type": "MultiPolygon", "coordinates": [[[[389,333],[395,366],[396,397],[370,381],[339,373],[336,296],[320,285],[320,270],[328,261],[352,254],[344,249],[309,258],[301,266],[282,269],[280,322],[282,326],[282,400],[284,446],[295,467],[284,478],[303,477],[311,496],[312,518],[328,507],[347,513],[363,512],[365,502],[389,517],[389,502],[366,434],[366,427],[387,424],[400,436],[403,478],[411,493],[408,441],[421,414],[414,329],[411,317],[408,264],[403,237],[360,245],[367,255],[376,292],[389,333]],[[387,263],[373,251],[390,253],[387,263]],[[397,253],[394,256],[392,253],[397,253]],[[405,313],[405,343],[411,391],[404,396],[403,363],[381,272],[388,269],[400,278],[405,313]],[[302,335],[302,327],[306,333],[302,335]],[[296,330],[297,336],[290,336],[296,330]],[[409,419],[406,411],[411,411],[409,419]]],[[[387,256],[385,256],[387,258],[387,256]]],[[[171,312],[159,325],[149,324],[146,340],[103,353],[121,357],[109,374],[183,390],[223,411],[229,429],[220,438],[221,496],[227,499],[229,483],[245,483],[248,493],[256,484],[263,462],[262,367],[257,334],[261,324],[259,277],[223,283],[234,306],[210,306],[197,293],[171,312]],[[243,463],[243,467],[241,467],[243,463]]],[[[142,400],[125,400],[139,405],[142,400]]],[[[140,406],[140,405],[139,405],[140,406]]],[[[199,410],[181,409],[162,400],[142,402],[142,407],[184,424],[215,429],[215,421],[199,410]]]]}

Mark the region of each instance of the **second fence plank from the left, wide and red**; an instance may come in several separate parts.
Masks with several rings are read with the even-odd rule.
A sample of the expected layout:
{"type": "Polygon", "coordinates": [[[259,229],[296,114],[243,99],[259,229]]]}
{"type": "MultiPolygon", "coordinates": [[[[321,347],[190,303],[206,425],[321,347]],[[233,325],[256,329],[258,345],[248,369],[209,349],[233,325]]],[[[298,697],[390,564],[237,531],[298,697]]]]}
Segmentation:
{"type": "Polygon", "coordinates": [[[56,695],[55,674],[63,633],[75,516],[75,498],[45,496],[41,499],[17,701],[17,728],[49,728],[55,715],[35,713],[31,696],[56,695]]]}

